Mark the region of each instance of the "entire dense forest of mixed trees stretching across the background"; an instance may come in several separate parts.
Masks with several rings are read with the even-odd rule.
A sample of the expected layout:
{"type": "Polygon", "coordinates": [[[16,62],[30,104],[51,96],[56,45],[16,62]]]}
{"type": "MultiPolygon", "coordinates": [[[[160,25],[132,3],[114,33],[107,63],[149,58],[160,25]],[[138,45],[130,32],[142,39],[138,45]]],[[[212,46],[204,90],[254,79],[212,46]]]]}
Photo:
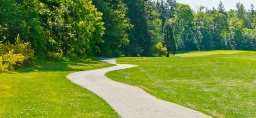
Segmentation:
{"type": "MultiPolygon", "coordinates": [[[[222,2],[193,10],[176,0],[0,0],[0,41],[23,42],[35,55],[49,57],[255,51],[256,11],[241,3],[227,11],[222,2]],[[174,36],[168,39],[172,43],[164,32],[174,36]]],[[[11,51],[7,48],[2,46],[1,55],[11,51]]]]}

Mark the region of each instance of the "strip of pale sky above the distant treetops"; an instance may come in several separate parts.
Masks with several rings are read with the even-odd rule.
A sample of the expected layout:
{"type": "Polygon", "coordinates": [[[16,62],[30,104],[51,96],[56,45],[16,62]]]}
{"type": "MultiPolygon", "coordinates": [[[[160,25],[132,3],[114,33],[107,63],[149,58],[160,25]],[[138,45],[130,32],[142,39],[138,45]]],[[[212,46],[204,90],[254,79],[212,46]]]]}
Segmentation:
{"type": "Polygon", "coordinates": [[[176,0],[178,3],[188,4],[192,9],[196,10],[196,6],[204,6],[208,9],[218,8],[220,1],[224,5],[226,11],[230,9],[236,9],[236,3],[240,2],[244,5],[246,10],[251,8],[251,4],[255,6],[256,9],[256,0],[176,0]]]}

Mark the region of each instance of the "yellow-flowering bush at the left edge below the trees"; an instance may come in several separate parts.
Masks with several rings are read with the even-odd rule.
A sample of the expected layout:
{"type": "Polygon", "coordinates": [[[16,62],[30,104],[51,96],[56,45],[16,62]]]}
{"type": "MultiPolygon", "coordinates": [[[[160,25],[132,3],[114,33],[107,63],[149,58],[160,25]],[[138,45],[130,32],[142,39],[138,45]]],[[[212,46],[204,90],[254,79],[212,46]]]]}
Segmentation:
{"type": "Polygon", "coordinates": [[[15,44],[11,44],[10,42],[4,43],[2,46],[4,51],[13,51],[13,54],[22,54],[25,59],[23,62],[19,62],[20,66],[28,66],[32,63],[35,62],[35,57],[34,57],[34,50],[31,48],[29,43],[23,43],[23,41],[20,40],[20,35],[15,38],[15,44]]]}

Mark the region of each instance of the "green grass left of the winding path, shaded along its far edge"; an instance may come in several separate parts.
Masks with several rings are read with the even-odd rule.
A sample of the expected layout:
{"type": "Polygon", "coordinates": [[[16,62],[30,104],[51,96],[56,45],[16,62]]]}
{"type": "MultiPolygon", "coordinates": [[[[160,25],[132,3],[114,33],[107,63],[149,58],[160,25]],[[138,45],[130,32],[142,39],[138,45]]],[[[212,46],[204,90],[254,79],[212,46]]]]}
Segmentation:
{"type": "Polygon", "coordinates": [[[0,118],[119,118],[102,98],[72,83],[72,72],[111,67],[99,61],[36,62],[0,74],[0,118]]]}

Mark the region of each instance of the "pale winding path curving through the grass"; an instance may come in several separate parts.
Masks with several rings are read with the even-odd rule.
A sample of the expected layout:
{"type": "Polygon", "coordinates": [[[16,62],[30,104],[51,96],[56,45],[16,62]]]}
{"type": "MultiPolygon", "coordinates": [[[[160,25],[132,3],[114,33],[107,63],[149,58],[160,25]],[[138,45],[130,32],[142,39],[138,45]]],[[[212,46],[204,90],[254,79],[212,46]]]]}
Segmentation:
{"type": "MultiPolygon", "coordinates": [[[[116,58],[102,58],[101,62],[116,64],[116,58]]],[[[104,74],[136,65],[117,64],[92,71],[75,72],[67,76],[103,98],[122,118],[211,118],[198,111],[157,99],[139,87],[108,79],[104,74]]]]}

